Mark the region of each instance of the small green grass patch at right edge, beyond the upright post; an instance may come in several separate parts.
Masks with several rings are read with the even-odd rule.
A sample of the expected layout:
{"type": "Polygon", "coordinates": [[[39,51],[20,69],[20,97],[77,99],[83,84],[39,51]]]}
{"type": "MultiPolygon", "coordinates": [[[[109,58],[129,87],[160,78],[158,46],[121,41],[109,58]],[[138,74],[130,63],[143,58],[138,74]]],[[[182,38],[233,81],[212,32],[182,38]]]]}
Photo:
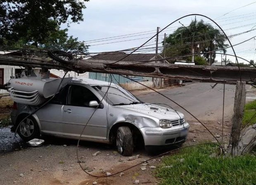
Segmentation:
{"type": "MultiPolygon", "coordinates": [[[[244,106],[244,117],[243,117],[243,124],[247,124],[250,120],[251,117],[254,116],[254,114],[256,113],[256,100],[251,101],[247,104],[245,104],[244,106]]],[[[256,123],[256,117],[254,117],[251,120],[251,124],[256,123]]]]}

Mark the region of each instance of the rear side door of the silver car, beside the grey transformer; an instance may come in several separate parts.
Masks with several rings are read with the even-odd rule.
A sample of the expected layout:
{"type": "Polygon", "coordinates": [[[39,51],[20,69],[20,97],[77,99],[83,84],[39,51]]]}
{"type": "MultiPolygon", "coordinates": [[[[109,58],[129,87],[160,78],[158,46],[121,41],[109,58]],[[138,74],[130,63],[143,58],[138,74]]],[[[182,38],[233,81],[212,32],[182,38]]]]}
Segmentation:
{"type": "Polygon", "coordinates": [[[41,124],[41,132],[62,135],[63,106],[66,104],[68,87],[64,87],[47,105],[36,112],[41,124]]]}

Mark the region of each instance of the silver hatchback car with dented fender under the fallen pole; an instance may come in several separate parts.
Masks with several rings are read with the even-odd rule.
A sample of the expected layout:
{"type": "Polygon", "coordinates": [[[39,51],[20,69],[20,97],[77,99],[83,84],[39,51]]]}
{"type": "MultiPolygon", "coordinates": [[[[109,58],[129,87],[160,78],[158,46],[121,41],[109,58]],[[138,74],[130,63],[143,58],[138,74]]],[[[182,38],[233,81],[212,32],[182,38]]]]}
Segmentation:
{"type": "MultiPolygon", "coordinates": [[[[13,107],[14,128],[37,108],[20,103],[13,107]]],[[[114,83],[73,78],[17,130],[24,141],[40,135],[71,139],[81,135],[81,140],[115,144],[121,155],[130,156],[137,145],[148,151],[181,145],[188,129],[184,115],[171,108],[143,103],[114,83]]]]}

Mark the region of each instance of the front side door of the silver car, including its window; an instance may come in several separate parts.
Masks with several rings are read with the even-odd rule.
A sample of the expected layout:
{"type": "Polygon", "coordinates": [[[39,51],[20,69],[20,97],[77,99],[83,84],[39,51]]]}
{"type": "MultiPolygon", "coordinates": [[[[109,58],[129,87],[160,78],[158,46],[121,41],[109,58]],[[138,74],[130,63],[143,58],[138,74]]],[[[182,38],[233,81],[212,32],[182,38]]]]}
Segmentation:
{"type": "Polygon", "coordinates": [[[100,99],[87,87],[75,84],[69,86],[67,103],[62,110],[63,131],[69,136],[79,137],[90,119],[82,133],[82,138],[106,140],[106,107],[100,106],[95,110],[96,107],[89,106],[90,101],[100,103],[100,99]]]}

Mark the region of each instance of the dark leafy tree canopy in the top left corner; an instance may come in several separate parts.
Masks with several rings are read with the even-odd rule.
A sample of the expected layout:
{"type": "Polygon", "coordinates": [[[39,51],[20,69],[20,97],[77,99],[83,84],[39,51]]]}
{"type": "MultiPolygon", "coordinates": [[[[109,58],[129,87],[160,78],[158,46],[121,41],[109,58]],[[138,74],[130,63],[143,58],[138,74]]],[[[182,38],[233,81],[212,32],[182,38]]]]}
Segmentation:
{"type": "Polygon", "coordinates": [[[47,43],[62,23],[83,21],[89,0],[4,0],[0,5],[0,44],[47,43]]]}

